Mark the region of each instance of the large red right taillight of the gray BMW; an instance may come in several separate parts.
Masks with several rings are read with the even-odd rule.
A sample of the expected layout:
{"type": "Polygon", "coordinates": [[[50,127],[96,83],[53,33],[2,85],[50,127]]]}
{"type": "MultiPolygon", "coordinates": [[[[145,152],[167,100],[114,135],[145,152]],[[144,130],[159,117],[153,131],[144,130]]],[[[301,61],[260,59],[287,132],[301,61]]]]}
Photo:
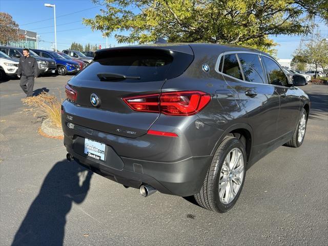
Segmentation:
{"type": "Polygon", "coordinates": [[[126,97],[123,100],[135,111],[193,115],[209,103],[211,96],[202,91],[181,91],[126,97]]]}

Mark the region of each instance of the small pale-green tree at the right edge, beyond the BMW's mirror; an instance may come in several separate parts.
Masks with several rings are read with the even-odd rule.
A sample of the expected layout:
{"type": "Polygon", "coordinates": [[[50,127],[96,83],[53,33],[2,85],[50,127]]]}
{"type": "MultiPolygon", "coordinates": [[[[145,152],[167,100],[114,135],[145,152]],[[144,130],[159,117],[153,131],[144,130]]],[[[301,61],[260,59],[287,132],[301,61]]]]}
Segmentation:
{"type": "Polygon", "coordinates": [[[316,34],[313,42],[306,44],[305,49],[296,52],[295,59],[299,62],[313,64],[316,72],[318,67],[325,70],[328,67],[328,40],[320,34],[316,34]]]}

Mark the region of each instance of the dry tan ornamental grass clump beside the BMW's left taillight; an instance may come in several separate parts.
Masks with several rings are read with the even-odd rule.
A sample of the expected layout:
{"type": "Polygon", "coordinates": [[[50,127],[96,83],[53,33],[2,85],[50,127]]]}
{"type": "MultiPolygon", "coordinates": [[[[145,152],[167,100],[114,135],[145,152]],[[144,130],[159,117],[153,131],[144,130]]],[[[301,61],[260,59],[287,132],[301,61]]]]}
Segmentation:
{"type": "Polygon", "coordinates": [[[46,118],[51,119],[53,126],[61,127],[61,100],[58,100],[55,95],[42,92],[37,96],[23,98],[22,101],[24,105],[33,109],[34,115],[44,115],[46,118]]]}

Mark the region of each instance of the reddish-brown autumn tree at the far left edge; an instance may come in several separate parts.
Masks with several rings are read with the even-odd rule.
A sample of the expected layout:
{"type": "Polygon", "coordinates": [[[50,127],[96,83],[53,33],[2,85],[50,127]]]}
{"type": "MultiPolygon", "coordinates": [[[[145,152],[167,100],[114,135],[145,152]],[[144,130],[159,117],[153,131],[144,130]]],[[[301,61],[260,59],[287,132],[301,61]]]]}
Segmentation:
{"type": "Polygon", "coordinates": [[[12,16],[5,12],[0,12],[0,44],[8,44],[9,41],[18,39],[18,25],[12,16]]]}

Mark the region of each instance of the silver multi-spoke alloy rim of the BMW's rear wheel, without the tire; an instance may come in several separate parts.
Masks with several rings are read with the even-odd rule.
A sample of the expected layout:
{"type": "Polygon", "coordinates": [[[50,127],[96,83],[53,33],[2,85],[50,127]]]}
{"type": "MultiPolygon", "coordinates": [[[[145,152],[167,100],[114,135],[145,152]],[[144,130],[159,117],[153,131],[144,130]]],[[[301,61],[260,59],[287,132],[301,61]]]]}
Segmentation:
{"type": "Polygon", "coordinates": [[[238,148],[232,149],[224,159],[219,180],[219,197],[229,204],[236,197],[243,179],[244,158],[238,148]]]}

